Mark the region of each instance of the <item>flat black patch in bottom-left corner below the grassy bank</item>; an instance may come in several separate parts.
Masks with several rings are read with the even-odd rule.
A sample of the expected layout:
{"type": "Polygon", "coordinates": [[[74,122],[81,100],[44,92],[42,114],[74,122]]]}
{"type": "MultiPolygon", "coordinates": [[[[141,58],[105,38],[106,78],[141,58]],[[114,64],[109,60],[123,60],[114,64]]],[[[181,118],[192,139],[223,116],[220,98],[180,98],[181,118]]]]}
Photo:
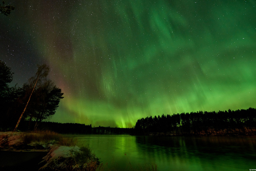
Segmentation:
{"type": "Polygon", "coordinates": [[[44,164],[41,162],[47,152],[0,151],[1,171],[38,171],[44,164]]]}

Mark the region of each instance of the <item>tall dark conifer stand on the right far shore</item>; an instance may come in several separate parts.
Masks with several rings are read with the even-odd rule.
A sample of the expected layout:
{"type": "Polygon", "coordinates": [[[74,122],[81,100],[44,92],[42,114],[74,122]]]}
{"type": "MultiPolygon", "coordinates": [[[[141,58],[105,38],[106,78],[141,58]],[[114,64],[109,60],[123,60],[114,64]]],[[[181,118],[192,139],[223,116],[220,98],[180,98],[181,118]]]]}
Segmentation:
{"type": "Polygon", "coordinates": [[[139,119],[137,135],[255,135],[256,109],[191,112],[139,119]]]}

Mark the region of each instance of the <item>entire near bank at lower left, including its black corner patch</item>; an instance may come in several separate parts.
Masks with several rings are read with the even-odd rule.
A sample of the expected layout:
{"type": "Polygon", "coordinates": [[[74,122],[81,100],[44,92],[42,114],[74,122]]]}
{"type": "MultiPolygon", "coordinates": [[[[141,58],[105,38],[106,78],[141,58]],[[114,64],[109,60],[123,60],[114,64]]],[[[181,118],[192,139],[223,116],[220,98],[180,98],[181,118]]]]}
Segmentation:
{"type": "Polygon", "coordinates": [[[51,131],[0,132],[1,170],[95,171],[99,158],[89,147],[76,146],[73,138],[63,138],[51,131]],[[40,163],[38,165],[38,163],[40,163]]]}

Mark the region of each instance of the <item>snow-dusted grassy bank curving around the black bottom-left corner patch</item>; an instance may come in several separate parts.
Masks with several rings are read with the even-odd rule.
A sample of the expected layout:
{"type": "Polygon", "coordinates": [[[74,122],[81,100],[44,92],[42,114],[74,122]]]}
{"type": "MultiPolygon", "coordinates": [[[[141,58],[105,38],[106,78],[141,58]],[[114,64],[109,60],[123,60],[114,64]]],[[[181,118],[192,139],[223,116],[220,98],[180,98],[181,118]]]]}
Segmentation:
{"type": "Polygon", "coordinates": [[[76,146],[76,139],[63,138],[52,131],[2,132],[0,150],[48,151],[40,170],[95,171],[99,158],[87,147],[76,146]]]}

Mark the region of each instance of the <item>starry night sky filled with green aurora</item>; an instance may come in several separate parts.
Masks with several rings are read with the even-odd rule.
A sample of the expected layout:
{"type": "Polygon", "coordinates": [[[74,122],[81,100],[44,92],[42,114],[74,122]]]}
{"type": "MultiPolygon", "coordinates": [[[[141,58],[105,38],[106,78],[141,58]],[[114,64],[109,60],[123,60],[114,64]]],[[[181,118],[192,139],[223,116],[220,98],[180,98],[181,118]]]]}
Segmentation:
{"type": "Polygon", "coordinates": [[[162,114],[256,107],[255,0],[5,0],[0,59],[21,87],[48,64],[49,121],[131,128],[162,114]]]}

